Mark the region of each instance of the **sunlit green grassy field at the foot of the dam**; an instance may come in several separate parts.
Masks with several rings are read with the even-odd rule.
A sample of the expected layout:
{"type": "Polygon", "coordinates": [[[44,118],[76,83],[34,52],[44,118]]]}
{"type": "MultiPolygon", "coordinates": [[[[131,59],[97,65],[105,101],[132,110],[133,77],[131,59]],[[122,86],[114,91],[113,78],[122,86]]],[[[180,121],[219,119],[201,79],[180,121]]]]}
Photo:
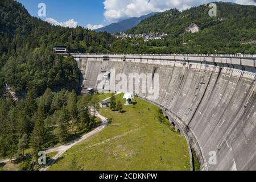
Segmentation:
{"type": "Polygon", "coordinates": [[[110,125],[65,152],[49,170],[69,170],[73,155],[84,170],[189,170],[185,138],[158,122],[158,107],[136,101],[123,106],[124,113],[101,109],[110,125]]]}

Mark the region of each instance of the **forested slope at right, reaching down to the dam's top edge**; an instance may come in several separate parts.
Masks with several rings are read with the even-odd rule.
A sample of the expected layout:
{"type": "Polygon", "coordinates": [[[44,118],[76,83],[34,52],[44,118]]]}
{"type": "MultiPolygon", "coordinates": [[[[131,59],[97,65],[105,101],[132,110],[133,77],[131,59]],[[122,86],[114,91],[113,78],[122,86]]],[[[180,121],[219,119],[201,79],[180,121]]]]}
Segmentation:
{"type": "MultiPolygon", "coordinates": [[[[256,53],[256,6],[216,2],[217,17],[210,17],[208,5],[182,12],[171,9],[144,19],[129,33],[165,32],[164,41],[151,41],[147,46],[166,47],[176,53],[256,53]],[[200,31],[185,29],[195,23],[200,31]]],[[[164,48],[163,48],[164,49],[164,48]]]]}

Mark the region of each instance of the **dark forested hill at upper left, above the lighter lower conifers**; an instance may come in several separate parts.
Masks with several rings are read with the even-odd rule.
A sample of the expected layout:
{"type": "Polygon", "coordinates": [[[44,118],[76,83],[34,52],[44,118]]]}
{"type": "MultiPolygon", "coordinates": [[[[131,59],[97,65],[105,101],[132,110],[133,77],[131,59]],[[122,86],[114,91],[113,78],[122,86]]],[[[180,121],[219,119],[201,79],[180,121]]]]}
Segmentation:
{"type": "Polygon", "coordinates": [[[46,88],[75,88],[79,69],[72,58],[55,56],[53,47],[65,45],[76,52],[108,52],[113,37],[84,29],[52,26],[30,16],[13,0],[0,1],[0,88],[14,92],[46,88]],[[73,44],[71,43],[73,34],[73,44]]]}

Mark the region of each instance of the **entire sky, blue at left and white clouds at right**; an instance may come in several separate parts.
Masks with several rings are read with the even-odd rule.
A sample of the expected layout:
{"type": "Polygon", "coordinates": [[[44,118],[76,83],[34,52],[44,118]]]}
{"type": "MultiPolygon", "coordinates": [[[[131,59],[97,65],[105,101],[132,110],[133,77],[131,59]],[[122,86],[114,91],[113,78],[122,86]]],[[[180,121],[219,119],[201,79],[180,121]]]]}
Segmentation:
{"type": "MultiPolygon", "coordinates": [[[[120,19],[138,17],[176,7],[179,10],[217,0],[16,0],[32,16],[38,16],[38,5],[46,5],[43,20],[61,26],[77,25],[96,29],[120,19]]],[[[222,0],[242,5],[256,5],[255,0],[222,0]]]]}

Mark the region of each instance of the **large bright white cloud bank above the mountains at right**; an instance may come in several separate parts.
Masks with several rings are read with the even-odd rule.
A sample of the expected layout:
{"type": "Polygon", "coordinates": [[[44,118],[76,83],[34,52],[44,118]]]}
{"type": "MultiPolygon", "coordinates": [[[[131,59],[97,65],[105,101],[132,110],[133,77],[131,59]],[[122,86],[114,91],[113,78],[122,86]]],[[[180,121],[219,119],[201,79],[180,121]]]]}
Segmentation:
{"type": "MultiPolygon", "coordinates": [[[[256,5],[254,0],[221,0],[241,5],[256,5]]],[[[115,22],[119,19],[141,16],[151,12],[165,11],[176,7],[179,10],[213,2],[213,0],[105,0],[105,19],[115,22]]]]}

